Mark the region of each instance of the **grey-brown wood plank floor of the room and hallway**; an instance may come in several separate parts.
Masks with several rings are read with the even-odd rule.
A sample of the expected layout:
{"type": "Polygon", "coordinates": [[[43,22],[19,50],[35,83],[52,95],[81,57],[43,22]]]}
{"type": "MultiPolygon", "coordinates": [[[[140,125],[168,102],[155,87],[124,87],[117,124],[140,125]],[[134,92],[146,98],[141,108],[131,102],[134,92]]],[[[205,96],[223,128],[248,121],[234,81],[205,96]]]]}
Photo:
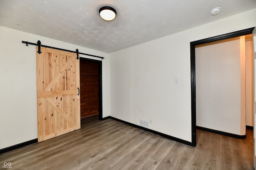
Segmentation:
{"type": "MultiPolygon", "coordinates": [[[[253,131],[235,139],[197,130],[197,147],[113,119],[81,119],[81,129],[0,154],[12,170],[253,170],[253,131]]],[[[6,168],[2,168],[6,169],[6,168]]]]}

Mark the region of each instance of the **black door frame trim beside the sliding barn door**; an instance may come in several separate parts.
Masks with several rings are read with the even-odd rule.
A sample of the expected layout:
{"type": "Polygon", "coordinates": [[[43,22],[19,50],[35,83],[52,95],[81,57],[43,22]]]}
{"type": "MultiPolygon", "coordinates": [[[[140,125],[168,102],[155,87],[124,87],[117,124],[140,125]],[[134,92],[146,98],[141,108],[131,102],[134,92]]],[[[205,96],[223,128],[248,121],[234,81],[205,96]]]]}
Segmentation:
{"type": "Polygon", "coordinates": [[[91,61],[91,62],[99,64],[99,120],[104,120],[102,117],[102,61],[88,59],[88,58],[84,58],[84,57],[80,57],[80,60],[91,61]]]}

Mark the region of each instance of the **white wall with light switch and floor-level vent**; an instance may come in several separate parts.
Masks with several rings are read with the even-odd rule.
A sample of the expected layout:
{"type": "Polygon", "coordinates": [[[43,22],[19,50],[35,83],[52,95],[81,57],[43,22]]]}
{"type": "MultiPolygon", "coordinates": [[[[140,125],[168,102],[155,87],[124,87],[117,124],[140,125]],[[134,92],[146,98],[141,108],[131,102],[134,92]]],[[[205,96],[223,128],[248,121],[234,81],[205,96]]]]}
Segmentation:
{"type": "Polygon", "coordinates": [[[150,129],[191,142],[190,42],[255,27],[255,16],[256,9],[111,53],[111,116],[136,125],[152,119],[150,129]]]}

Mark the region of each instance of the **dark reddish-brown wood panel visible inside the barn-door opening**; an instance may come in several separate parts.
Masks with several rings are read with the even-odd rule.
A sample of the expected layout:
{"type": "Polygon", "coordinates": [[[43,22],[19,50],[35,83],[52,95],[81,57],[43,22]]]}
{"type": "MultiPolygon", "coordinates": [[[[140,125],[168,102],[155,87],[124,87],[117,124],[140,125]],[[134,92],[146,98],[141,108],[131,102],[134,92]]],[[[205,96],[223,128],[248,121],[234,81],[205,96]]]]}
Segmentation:
{"type": "Polygon", "coordinates": [[[80,58],[81,118],[99,114],[99,63],[80,58]]]}

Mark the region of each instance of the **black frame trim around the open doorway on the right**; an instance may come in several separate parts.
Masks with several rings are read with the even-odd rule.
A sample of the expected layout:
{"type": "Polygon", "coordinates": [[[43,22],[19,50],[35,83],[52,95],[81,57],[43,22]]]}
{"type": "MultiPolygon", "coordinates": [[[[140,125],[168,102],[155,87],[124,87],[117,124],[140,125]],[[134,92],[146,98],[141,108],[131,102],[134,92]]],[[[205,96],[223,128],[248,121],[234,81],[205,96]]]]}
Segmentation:
{"type": "Polygon", "coordinates": [[[192,146],[196,147],[196,54],[195,46],[252,34],[254,27],[190,42],[192,146]]]}

